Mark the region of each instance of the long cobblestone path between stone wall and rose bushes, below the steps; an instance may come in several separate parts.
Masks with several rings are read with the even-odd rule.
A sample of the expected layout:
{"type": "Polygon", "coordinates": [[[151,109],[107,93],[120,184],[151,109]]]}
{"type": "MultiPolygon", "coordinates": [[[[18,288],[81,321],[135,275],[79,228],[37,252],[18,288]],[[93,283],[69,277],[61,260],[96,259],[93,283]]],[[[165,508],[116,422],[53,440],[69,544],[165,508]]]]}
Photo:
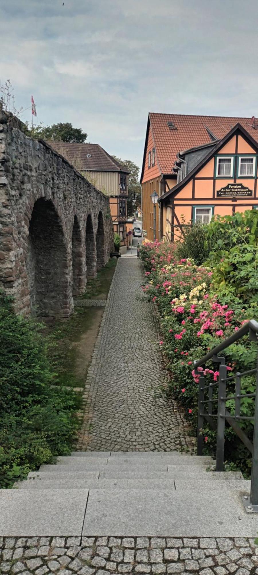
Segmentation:
{"type": "Polygon", "coordinates": [[[88,370],[80,450],[170,451],[193,445],[182,409],[159,392],[165,370],[143,281],[139,259],[119,260],[88,370]]]}

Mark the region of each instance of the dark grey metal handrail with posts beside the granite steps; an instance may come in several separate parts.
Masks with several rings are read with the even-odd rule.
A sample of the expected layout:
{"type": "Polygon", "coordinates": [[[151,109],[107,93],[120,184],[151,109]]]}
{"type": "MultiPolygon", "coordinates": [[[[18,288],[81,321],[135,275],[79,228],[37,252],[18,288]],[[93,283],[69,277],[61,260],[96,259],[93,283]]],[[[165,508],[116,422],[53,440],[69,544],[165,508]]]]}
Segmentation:
{"type": "MultiPolygon", "coordinates": [[[[258,512],[258,362],[256,369],[237,372],[236,375],[227,377],[227,366],[225,365],[225,358],[218,356],[221,351],[228,348],[232,343],[237,342],[243,336],[249,333],[249,339],[258,341],[258,322],[250,320],[245,323],[240,329],[230,335],[218,346],[210,350],[208,354],[204,355],[201,359],[194,361],[194,371],[200,376],[199,381],[199,398],[198,398],[198,440],[197,440],[197,455],[202,455],[203,450],[203,427],[204,419],[209,421],[213,428],[216,428],[214,419],[217,419],[217,453],[216,453],[216,471],[224,470],[224,443],[225,443],[225,421],[233,428],[234,432],[239,436],[241,441],[245,444],[247,449],[253,455],[252,459],[252,477],[251,477],[251,495],[249,498],[249,507],[244,501],[245,507],[252,511],[258,512]],[[211,382],[205,385],[204,371],[198,371],[198,367],[204,365],[210,359],[213,362],[219,363],[219,377],[217,382],[211,382]],[[256,392],[255,393],[241,393],[241,378],[249,374],[256,373],[256,392]],[[227,382],[233,383],[235,381],[235,393],[232,394],[230,389],[230,396],[226,396],[227,382]],[[217,386],[218,394],[213,398],[213,388],[217,386]],[[205,398],[205,392],[209,390],[208,399],[205,398]],[[255,397],[255,413],[251,417],[241,416],[241,398],[255,397]],[[229,413],[226,409],[226,401],[234,400],[234,415],[229,413]],[[213,413],[213,405],[217,403],[217,413],[213,413]],[[205,405],[208,404],[208,412],[205,412],[205,405]],[[239,420],[255,420],[253,431],[253,443],[245,434],[243,429],[236,423],[239,420]]],[[[207,395],[206,395],[207,397],[207,395]]]]}

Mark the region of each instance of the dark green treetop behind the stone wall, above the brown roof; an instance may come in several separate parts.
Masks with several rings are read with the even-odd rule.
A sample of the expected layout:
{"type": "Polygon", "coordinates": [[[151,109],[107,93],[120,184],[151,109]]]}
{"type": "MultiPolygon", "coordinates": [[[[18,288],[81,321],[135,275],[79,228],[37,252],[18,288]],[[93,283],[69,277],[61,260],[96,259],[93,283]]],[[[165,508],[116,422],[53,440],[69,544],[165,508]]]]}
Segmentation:
{"type": "Polygon", "coordinates": [[[34,126],[31,135],[42,140],[76,142],[79,144],[83,144],[87,138],[87,133],[83,132],[81,128],[73,128],[71,122],[65,122],[65,124],[59,122],[52,126],[34,126]]]}

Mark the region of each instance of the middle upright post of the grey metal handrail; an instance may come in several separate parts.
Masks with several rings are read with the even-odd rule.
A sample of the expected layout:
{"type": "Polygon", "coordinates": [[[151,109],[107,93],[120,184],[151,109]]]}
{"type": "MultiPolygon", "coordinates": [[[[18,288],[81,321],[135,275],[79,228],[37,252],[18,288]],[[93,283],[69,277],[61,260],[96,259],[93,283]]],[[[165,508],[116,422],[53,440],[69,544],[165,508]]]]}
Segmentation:
{"type": "Polygon", "coordinates": [[[220,358],[220,377],[218,381],[218,420],[216,471],[224,470],[225,415],[226,415],[226,366],[225,358],[220,358]],[[223,398],[223,399],[222,399],[223,398]]]}

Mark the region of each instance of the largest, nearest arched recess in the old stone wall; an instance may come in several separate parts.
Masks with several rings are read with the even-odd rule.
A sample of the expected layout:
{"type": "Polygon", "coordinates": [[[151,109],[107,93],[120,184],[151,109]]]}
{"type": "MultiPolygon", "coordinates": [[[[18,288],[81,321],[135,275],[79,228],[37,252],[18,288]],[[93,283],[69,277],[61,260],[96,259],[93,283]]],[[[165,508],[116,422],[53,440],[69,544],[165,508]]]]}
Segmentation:
{"type": "Polygon", "coordinates": [[[69,316],[72,293],[64,232],[53,202],[45,198],[33,206],[26,269],[33,315],[69,316]]]}

